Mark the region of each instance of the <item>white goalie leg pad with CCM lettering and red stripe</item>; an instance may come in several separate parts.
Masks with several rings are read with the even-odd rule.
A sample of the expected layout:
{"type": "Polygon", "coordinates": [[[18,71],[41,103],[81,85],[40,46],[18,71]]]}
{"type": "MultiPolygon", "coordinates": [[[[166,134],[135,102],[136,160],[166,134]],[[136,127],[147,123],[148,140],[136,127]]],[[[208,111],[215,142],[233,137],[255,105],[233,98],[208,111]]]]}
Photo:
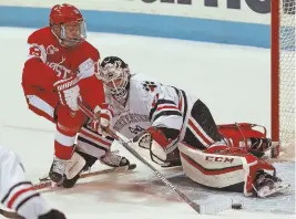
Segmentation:
{"type": "Polygon", "coordinates": [[[193,181],[213,188],[244,181],[245,173],[239,157],[206,154],[185,143],[180,143],[178,149],[183,170],[193,181]]]}

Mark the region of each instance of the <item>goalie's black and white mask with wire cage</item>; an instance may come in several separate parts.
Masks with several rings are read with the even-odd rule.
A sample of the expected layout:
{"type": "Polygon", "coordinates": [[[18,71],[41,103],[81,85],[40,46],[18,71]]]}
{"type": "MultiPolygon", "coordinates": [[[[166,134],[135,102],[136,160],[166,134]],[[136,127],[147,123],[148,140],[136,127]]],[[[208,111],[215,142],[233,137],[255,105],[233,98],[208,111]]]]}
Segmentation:
{"type": "Polygon", "coordinates": [[[99,77],[103,81],[106,92],[124,105],[129,90],[129,65],[120,58],[108,56],[100,65],[99,77]]]}

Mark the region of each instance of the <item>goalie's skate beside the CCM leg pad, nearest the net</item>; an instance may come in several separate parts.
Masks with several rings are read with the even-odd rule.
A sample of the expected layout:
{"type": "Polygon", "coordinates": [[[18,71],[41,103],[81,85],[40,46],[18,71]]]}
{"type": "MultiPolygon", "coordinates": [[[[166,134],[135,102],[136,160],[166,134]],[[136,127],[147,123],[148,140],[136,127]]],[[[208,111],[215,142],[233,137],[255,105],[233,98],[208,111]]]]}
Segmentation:
{"type": "Polygon", "coordinates": [[[255,195],[265,198],[289,187],[276,176],[272,176],[263,170],[257,173],[255,184],[253,185],[255,195]]]}

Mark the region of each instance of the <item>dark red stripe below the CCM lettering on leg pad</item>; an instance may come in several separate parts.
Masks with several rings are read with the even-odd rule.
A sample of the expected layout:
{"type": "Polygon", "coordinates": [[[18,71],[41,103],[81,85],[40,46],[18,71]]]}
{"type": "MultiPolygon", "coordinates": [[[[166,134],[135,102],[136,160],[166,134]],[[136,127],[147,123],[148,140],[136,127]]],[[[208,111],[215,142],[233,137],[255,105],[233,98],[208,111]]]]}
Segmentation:
{"type": "Polygon", "coordinates": [[[191,157],[185,155],[184,153],[181,153],[181,156],[187,163],[190,163],[192,166],[194,166],[196,169],[198,169],[201,173],[203,173],[204,175],[207,175],[207,176],[208,175],[222,175],[222,174],[227,174],[227,173],[231,173],[231,171],[236,171],[236,170],[243,169],[243,165],[226,167],[226,168],[223,168],[223,169],[206,169],[202,165],[200,165],[195,160],[193,160],[191,157]]]}

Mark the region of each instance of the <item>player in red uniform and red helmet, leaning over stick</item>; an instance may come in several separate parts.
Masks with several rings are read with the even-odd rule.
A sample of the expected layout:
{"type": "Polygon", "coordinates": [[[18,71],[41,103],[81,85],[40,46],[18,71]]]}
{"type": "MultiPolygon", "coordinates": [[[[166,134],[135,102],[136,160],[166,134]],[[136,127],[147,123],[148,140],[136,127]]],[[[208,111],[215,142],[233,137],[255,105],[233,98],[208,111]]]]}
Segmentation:
{"type": "Polygon", "coordinates": [[[110,150],[112,142],[82,127],[88,117],[79,111],[79,101],[94,113],[101,113],[102,117],[105,115],[106,124],[112,112],[104,107],[103,84],[94,76],[100,53],[85,40],[86,28],[81,12],[71,4],[57,4],[51,9],[49,20],[49,27],[28,38],[29,56],[23,67],[22,87],[29,108],[57,124],[50,178],[63,181],[69,165],[76,165],[81,159],[86,159],[90,166],[96,158],[110,166],[129,165],[125,157],[110,150]],[[78,133],[79,145],[74,153],[78,133]],[[96,147],[98,142],[103,143],[100,153],[83,154],[85,144],[96,147]],[[71,160],[73,153],[75,159],[71,160]]]}

